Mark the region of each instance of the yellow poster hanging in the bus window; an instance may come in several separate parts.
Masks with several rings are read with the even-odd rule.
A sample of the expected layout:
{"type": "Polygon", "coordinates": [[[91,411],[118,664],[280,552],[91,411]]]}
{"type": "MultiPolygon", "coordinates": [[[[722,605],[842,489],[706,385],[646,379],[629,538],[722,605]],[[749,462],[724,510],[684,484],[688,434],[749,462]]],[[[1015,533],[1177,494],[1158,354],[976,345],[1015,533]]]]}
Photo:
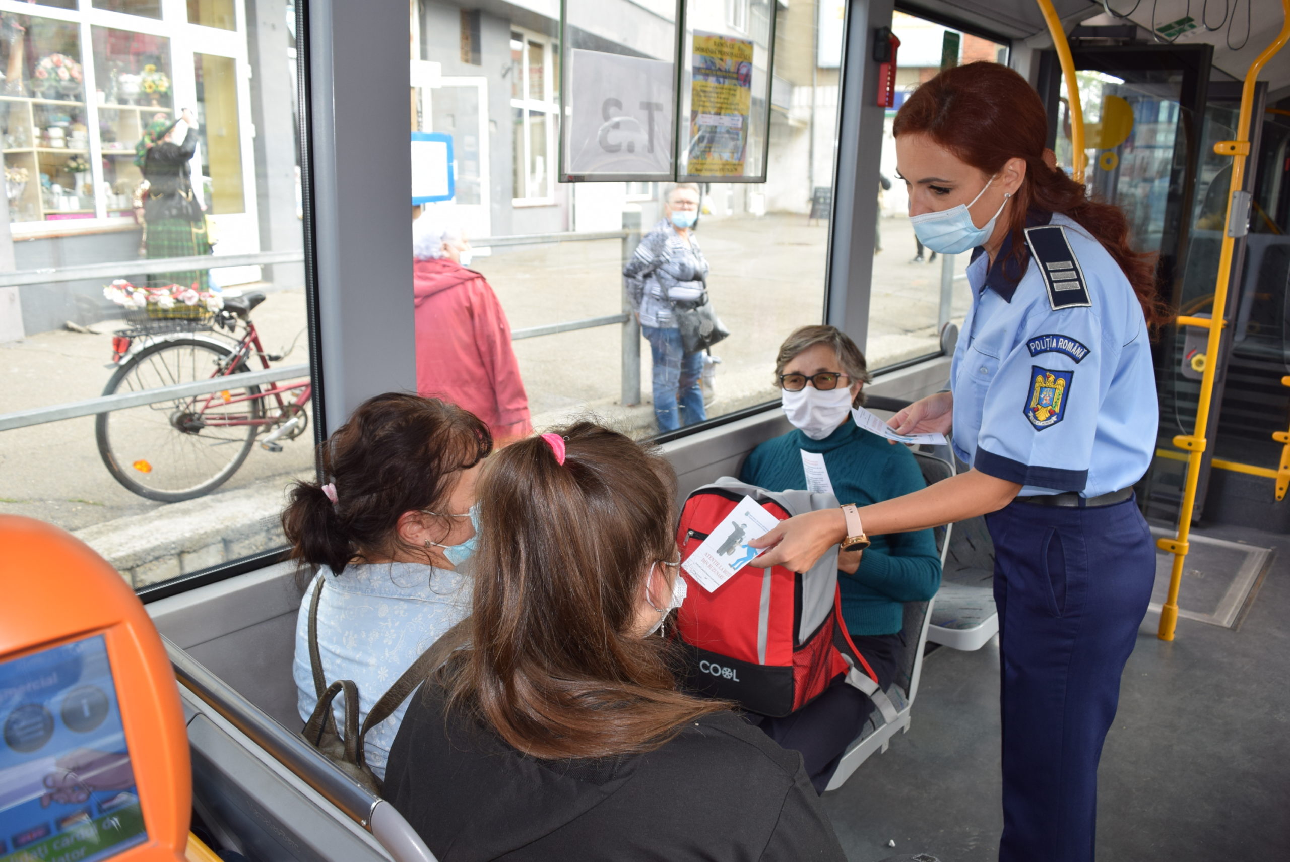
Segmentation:
{"type": "Polygon", "coordinates": [[[686,173],[742,177],[751,111],[752,43],[695,32],[686,173]]]}

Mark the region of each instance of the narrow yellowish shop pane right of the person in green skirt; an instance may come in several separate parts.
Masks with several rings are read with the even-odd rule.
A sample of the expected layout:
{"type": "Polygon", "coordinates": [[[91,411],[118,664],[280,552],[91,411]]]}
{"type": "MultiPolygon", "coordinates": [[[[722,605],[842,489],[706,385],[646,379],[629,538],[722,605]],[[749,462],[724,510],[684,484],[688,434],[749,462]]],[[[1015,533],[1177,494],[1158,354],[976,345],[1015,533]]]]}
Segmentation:
{"type": "Polygon", "coordinates": [[[243,200],[241,132],[237,123],[236,61],[194,54],[197,76],[197,119],[201,134],[201,173],[209,185],[210,212],[240,213],[243,200]]]}

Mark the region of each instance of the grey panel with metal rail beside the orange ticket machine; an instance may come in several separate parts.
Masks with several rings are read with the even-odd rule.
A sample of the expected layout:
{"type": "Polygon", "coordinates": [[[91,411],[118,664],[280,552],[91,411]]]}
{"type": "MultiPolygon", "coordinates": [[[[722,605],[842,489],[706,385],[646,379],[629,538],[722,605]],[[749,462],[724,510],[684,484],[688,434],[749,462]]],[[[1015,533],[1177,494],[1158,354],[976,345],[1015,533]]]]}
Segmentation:
{"type": "Polygon", "coordinates": [[[356,785],[174,643],[194,809],[224,849],[263,862],[435,862],[395,808],[356,785]]]}

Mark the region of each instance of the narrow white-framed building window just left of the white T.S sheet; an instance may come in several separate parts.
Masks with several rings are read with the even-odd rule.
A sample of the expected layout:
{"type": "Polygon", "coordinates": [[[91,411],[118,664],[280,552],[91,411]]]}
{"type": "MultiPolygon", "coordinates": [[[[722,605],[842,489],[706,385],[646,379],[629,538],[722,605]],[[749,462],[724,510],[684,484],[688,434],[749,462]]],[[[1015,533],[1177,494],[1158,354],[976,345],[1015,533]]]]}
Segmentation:
{"type": "Polygon", "coordinates": [[[556,81],[552,44],[533,34],[511,32],[511,107],[515,148],[512,197],[546,204],[555,196],[556,81]]]}

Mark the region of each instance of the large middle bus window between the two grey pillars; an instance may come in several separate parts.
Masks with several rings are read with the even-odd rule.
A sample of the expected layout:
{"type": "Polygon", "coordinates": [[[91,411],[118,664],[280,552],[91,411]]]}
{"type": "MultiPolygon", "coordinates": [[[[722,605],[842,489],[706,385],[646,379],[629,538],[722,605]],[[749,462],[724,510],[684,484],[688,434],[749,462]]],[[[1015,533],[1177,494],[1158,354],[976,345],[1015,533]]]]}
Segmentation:
{"type": "MultiPolygon", "coordinates": [[[[606,22],[593,34],[569,27],[569,50],[561,50],[555,17],[521,22],[481,9],[466,22],[452,4],[413,4],[414,137],[428,135],[419,138],[427,145],[450,139],[455,169],[450,194],[445,187],[414,196],[414,216],[423,219],[418,235],[437,231],[436,248],[446,234],[468,241],[468,268],[482,276],[470,289],[485,292],[489,314],[506,321],[512,338],[506,348],[476,339],[472,350],[517,369],[494,382],[461,368],[466,348],[448,346],[459,333],[442,330],[454,299],[441,288],[462,274],[441,258],[421,259],[418,390],[489,412],[484,418],[503,436],[584,412],[653,436],[777,400],[777,346],[792,329],[823,319],[844,4],[691,0],[690,21],[700,22],[694,27],[752,57],[746,120],[762,132],[748,135],[743,159],[753,165],[766,156],[769,169],[765,183],[703,182],[675,201],[667,182],[557,182],[555,119],[566,58],[577,67],[599,52],[610,65],[624,57],[671,68],[675,27],[654,32],[657,6],[611,1],[608,15],[600,3],[569,4],[570,22],[591,6],[606,22]],[[658,37],[650,41],[650,34],[658,37]],[[757,76],[771,72],[769,99],[760,98],[757,76]],[[464,107],[482,105],[489,110],[464,107]],[[671,204],[697,217],[684,236],[667,221],[671,204]],[[624,303],[624,265],[642,258],[627,276],[637,302],[624,303]],[[671,271],[660,277],[659,268],[671,271]],[[670,296],[659,293],[664,281],[670,296]],[[704,289],[730,336],[710,351],[686,351],[672,306],[704,289]],[[493,386],[482,397],[481,385],[493,386]]],[[[628,125],[623,120],[609,134],[644,148],[648,132],[628,125]]]]}

